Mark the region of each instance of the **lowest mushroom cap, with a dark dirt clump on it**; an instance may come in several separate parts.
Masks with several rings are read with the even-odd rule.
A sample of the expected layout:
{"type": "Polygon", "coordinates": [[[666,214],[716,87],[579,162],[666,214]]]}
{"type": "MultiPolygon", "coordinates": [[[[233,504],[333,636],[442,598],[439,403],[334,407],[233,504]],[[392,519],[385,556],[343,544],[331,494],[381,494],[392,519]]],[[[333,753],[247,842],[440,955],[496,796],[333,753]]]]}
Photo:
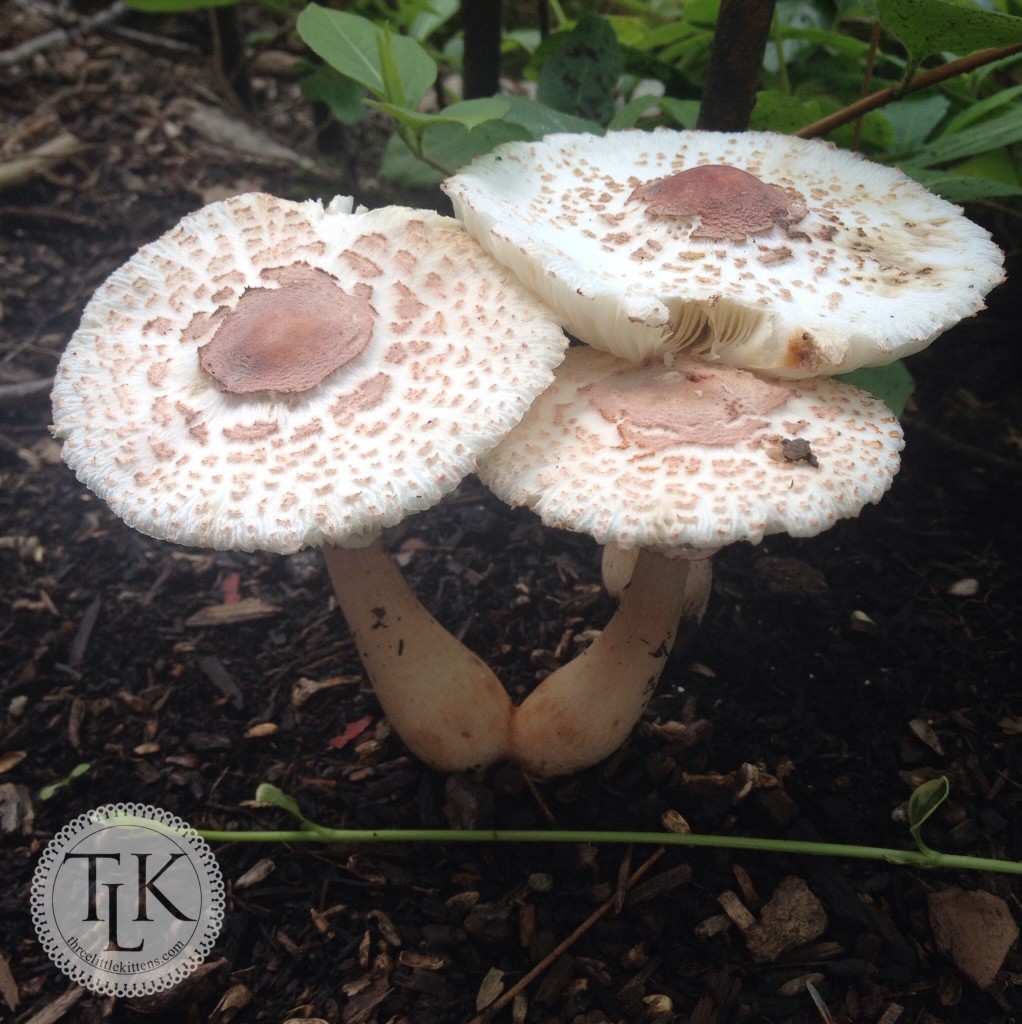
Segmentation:
{"type": "Polygon", "coordinates": [[[812,537],[894,479],[901,428],[864,391],[668,361],[568,349],[480,478],[549,526],[694,555],[767,534],[812,537]]]}

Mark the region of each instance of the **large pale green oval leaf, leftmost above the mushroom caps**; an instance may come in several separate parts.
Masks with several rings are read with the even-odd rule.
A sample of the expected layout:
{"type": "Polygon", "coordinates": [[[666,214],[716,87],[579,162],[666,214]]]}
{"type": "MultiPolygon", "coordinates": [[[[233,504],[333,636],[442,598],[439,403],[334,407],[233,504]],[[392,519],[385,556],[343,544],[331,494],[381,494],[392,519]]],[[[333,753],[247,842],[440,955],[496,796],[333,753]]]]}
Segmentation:
{"type": "Polygon", "coordinates": [[[416,106],[436,81],[436,62],[414,40],[398,36],[357,14],[310,3],[299,15],[298,35],[316,56],[375,96],[416,106]],[[389,39],[403,97],[388,93],[380,56],[380,38],[389,39]]]}

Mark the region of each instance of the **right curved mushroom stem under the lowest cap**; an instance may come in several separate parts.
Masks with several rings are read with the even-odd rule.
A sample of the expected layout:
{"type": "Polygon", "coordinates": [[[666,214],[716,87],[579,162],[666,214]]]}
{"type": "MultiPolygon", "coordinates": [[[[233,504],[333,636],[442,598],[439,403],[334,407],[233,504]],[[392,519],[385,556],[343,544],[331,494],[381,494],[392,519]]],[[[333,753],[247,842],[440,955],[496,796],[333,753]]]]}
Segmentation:
{"type": "Polygon", "coordinates": [[[566,775],[601,761],[625,741],[652,696],[678,622],[692,606],[688,570],[685,559],[639,553],[603,632],[515,710],[512,760],[535,775],[566,775]]]}

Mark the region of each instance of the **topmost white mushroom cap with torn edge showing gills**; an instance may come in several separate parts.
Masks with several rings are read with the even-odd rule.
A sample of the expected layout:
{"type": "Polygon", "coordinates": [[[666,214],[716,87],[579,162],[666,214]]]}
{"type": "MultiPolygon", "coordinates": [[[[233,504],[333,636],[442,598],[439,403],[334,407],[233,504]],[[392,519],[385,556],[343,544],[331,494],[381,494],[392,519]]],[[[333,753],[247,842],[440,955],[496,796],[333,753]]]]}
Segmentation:
{"type": "Polygon", "coordinates": [[[782,377],[881,366],[1003,280],[1000,251],[957,207],[769,132],[548,135],[443,188],[572,334],[633,361],[687,349],[782,377]]]}

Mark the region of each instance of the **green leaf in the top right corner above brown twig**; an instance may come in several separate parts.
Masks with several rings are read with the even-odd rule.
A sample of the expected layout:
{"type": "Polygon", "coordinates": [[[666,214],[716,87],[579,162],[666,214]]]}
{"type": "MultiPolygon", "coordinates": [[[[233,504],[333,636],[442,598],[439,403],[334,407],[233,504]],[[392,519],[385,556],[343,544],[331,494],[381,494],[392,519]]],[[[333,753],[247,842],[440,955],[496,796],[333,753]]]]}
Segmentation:
{"type": "Polygon", "coordinates": [[[881,24],[918,63],[932,53],[970,53],[1022,42],[1022,18],[952,0],[878,0],[881,24]]]}

